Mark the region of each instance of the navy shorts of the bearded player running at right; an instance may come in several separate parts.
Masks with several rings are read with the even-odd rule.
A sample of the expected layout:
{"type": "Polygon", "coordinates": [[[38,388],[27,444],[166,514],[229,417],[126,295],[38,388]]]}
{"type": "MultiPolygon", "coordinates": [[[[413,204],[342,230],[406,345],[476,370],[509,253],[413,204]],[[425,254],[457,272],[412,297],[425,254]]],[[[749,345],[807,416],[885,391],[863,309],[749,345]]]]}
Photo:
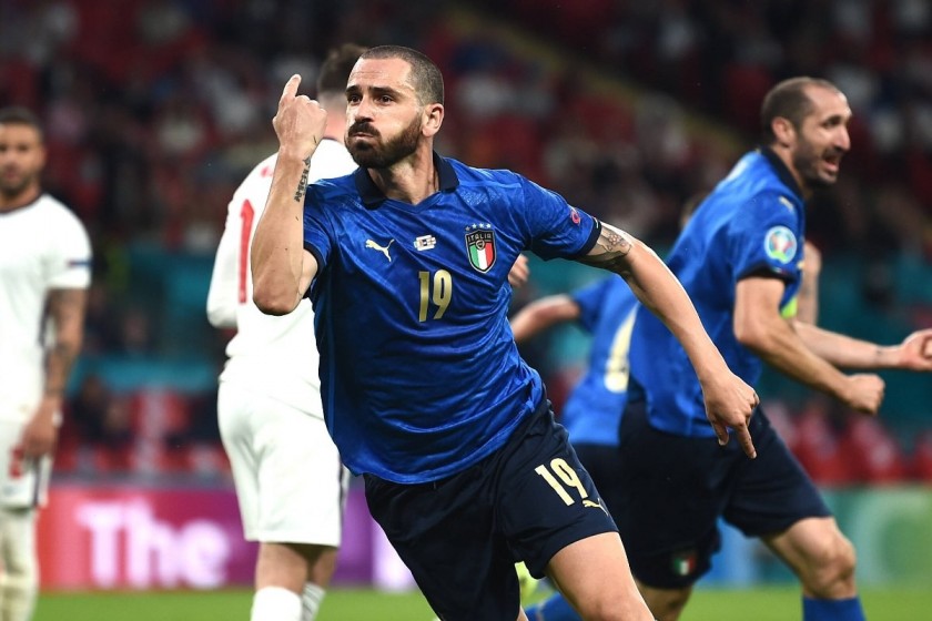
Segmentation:
{"type": "Polygon", "coordinates": [[[757,459],[732,438],[690,438],[659,431],[645,403],[621,419],[621,507],[618,530],[635,577],[650,587],[693,584],[720,546],[718,518],[748,537],[781,532],[831,512],[819,490],[758,408],[751,417],[757,459]]]}

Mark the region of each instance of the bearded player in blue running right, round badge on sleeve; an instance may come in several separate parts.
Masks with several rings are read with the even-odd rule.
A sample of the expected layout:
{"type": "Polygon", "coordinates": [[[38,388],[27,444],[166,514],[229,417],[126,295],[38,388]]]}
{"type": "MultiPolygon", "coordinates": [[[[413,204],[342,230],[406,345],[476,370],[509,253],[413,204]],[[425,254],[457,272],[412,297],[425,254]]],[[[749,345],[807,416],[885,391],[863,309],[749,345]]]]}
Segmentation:
{"type": "MultiPolygon", "coordinates": [[[[845,96],[831,83],[777,84],[761,109],[763,145],[696,210],[668,256],[729,366],[758,380],[763,363],[877,414],[883,380],[840,369],[932,370],[932,330],[881,347],[794,320],[806,200],[834,183],[850,147],[845,96]]],[[[631,336],[616,521],[654,614],[678,619],[719,547],[719,517],[759,537],[799,578],[806,621],[861,620],[854,551],[819,491],[758,411],[758,457],[717,446],[682,347],[649,313],[631,336]]]]}

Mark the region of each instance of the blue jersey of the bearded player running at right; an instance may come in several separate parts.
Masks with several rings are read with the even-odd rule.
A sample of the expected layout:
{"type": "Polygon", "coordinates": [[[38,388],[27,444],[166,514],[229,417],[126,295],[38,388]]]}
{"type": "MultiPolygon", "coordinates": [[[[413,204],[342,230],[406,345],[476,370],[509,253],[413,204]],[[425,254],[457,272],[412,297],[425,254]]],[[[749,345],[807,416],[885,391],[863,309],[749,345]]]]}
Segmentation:
{"type": "MultiPolygon", "coordinates": [[[[667,258],[728,366],[751,386],[762,363],[735,337],[736,285],[751,275],[782,278],[787,288],[780,310],[794,313],[803,207],[799,186],[777,155],[768,149],[750,152],[698,207],[667,258]]],[[[686,352],[650,313],[638,310],[630,356],[631,376],[644,388],[654,427],[715,436],[686,352]]]]}

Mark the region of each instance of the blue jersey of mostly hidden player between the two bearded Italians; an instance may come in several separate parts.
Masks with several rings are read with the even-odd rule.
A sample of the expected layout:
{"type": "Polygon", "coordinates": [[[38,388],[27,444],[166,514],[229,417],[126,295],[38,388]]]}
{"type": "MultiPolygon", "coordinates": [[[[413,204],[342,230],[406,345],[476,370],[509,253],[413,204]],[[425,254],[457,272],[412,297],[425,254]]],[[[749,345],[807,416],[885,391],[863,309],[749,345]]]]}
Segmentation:
{"type": "Polygon", "coordinates": [[[620,276],[609,276],[571,295],[579,325],[592,335],[589,366],[564,405],[561,423],[574,444],[618,446],[628,394],[628,348],[637,297],[620,276]]]}

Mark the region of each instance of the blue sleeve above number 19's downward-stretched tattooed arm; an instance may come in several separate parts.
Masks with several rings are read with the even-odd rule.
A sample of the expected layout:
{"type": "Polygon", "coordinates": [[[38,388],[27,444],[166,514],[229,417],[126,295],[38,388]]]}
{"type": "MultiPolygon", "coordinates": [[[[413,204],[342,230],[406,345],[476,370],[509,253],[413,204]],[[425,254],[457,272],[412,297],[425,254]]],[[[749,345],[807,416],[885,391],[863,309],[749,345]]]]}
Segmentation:
{"type": "Polygon", "coordinates": [[[544,259],[576,258],[588,253],[598,237],[598,222],[556,192],[520,179],[530,251],[544,259]]]}

